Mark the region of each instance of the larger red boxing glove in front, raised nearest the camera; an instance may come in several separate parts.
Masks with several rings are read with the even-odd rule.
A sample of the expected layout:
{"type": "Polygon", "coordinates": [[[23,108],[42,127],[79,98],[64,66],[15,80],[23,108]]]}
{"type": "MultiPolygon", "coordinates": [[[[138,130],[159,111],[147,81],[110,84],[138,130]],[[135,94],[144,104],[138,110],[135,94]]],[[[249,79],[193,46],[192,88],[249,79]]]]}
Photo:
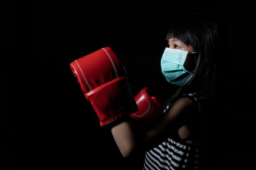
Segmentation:
{"type": "Polygon", "coordinates": [[[74,60],[70,68],[99,117],[101,127],[138,110],[125,67],[110,47],[74,60]]]}

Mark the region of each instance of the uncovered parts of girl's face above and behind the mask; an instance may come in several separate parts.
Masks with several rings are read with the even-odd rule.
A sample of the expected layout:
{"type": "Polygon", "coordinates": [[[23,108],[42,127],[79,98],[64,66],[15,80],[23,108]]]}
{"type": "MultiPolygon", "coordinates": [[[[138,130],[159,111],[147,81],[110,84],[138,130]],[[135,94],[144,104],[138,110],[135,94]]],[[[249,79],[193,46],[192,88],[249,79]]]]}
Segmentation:
{"type": "MultiPolygon", "coordinates": [[[[191,45],[187,46],[186,44],[184,44],[184,42],[177,39],[169,39],[168,45],[170,49],[179,49],[183,51],[189,51],[189,53],[195,52],[191,45]]],[[[197,60],[198,60],[197,53],[188,54],[186,57],[186,61],[184,62],[184,65],[183,65],[184,68],[189,72],[195,70],[197,60]]]]}

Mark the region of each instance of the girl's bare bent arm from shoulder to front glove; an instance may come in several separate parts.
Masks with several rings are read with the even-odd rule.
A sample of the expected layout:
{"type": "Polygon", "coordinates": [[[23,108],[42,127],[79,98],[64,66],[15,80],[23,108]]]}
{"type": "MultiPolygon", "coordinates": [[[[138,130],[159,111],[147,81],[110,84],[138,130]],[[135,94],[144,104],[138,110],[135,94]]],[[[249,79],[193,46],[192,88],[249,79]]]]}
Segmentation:
{"type": "MultiPolygon", "coordinates": [[[[186,125],[190,120],[192,110],[192,101],[189,98],[181,97],[171,105],[165,114],[162,114],[145,129],[137,129],[130,121],[123,121],[112,127],[111,132],[124,157],[140,155],[186,125]]],[[[187,131],[191,130],[180,132],[187,133],[187,131]]]]}

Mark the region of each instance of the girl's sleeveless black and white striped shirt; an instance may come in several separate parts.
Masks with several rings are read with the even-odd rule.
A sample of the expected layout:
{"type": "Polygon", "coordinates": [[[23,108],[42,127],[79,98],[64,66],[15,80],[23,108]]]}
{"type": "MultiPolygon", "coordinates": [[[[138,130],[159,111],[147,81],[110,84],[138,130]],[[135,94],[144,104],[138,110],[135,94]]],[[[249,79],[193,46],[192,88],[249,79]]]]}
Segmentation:
{"type": "MultiPolygon", "coordinates": [[[[145,154],[144,170],[202,170],[207,162],[207,113],[204,108],[205,99],[201,93],[183,95],[195,102],[196,128],[185,139],[177,133],[145,154]]],[[[166,110],[171,106],[169,103],[166,110]]]]}

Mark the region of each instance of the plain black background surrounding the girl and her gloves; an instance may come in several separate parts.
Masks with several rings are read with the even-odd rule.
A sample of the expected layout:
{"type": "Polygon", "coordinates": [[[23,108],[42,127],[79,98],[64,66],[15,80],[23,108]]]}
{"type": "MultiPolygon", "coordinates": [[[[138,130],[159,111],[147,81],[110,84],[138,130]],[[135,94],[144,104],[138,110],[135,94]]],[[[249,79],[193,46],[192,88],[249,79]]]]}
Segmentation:
{"type": "MultiPolygon", "coordinates": [[[[85,99],[69,64],[110,46],[126,66],[132,92],[166,94],[160,72],[173,18],[218,13],[231,45],[219,169],[255,169],[255,19],[249,2],[1,2],[1,148],[5,169],[142,169],[143,157],[121,157],[85,99]]],[[[97,68],[96,68],[97,69],[97,68]]],[[[218,126],[218,124],[216,125],[218,126]]]]}

